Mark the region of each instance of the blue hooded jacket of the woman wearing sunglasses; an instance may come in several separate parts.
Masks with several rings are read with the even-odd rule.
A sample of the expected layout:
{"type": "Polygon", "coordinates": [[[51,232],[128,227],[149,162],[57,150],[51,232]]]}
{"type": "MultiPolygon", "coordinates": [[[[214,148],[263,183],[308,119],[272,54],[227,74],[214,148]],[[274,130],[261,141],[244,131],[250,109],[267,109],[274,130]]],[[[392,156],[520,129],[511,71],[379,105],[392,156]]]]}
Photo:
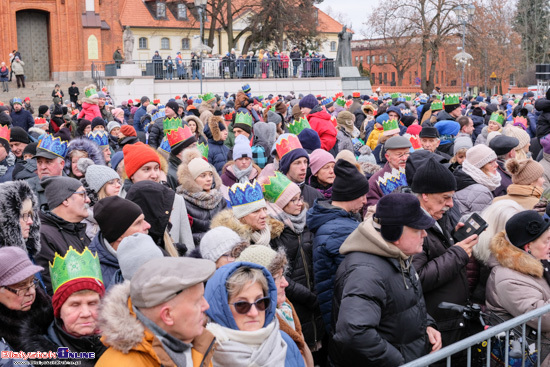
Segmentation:
{"type": "MultiPolygon", "coordinates": [[[[268,284],[269,297],[271,298],[271,306],[265,310],[265,323],[263,327],[266,327],[275,318],[275,308],[277,307],[277,287],[273,277],[261,265],[247,263],[247,262],[234,262],[222,266],[208,280],[206,287],[204,288],[204,298],[208,301],[210,308],[206,310],[206,314],[210,319],[218,325],[223,327],[238,330],[231,309],[229,308],[229,297],[225,283],[227,279],[241,266],[249,266],[251,268],[262,269],[268,284]]],[[[300,354],[300,350],[296,346],[296,343],[286,334],[284,331],[280,331],[281,336],[287,344],[285,367],[301,367],[304,366],[304,359],[300,354]]]]}

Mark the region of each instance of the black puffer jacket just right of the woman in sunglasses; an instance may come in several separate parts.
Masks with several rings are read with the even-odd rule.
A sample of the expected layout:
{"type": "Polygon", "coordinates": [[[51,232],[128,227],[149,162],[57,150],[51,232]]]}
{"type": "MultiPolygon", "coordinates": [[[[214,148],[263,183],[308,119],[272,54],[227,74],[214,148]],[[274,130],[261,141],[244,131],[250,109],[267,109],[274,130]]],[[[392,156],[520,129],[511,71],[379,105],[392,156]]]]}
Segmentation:
{"type": "Polygon", "coordinates": [[[283,233],[271,241],[271,247],[282,247],[286,252],[289,272],[285,292],[298,314],[306,343],[315,346],[325,329],[313,284],[313,233],[305,227],[297,234],[285,226],[283,233]]]}

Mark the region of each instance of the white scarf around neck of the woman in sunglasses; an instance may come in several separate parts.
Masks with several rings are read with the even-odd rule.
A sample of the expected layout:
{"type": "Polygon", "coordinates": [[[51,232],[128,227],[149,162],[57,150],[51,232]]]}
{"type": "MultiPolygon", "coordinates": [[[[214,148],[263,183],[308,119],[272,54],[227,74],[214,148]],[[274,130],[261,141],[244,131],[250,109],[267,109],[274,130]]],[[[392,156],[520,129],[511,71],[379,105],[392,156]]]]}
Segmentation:
{"type": "Polygon", "coordinates": [[[279,321],[256,331],[241,331],[209,323],[206,329],[216,337],[215,366],[284,366],[287,345],[279,331],[279,321]]]}

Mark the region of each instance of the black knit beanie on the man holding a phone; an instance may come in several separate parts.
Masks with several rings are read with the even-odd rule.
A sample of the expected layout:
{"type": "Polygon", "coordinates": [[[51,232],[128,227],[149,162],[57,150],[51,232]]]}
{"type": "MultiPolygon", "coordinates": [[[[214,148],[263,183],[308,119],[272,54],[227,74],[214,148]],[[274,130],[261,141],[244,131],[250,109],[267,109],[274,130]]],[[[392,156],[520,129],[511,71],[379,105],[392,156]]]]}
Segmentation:
{"type": "Polygon", "coordinates": [[[411,189],[417,194],[456,191],[456,179],[449,169],[430,157],[416,170],[411,189]]]}

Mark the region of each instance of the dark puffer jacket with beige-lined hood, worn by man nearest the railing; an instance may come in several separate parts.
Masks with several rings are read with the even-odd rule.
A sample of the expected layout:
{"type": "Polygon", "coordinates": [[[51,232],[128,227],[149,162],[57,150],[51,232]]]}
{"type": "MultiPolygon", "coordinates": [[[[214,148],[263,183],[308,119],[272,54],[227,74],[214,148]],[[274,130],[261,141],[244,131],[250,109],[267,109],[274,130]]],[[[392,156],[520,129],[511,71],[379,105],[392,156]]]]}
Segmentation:
{"type": "Polygon", "coordinates": [[[334,366],[399,366],[429,353],[435,327],[410,257],[363,222],[340,247],[330,361],[334,366]],[[360,310],[360,312],[358,312],[360,310]]]}

